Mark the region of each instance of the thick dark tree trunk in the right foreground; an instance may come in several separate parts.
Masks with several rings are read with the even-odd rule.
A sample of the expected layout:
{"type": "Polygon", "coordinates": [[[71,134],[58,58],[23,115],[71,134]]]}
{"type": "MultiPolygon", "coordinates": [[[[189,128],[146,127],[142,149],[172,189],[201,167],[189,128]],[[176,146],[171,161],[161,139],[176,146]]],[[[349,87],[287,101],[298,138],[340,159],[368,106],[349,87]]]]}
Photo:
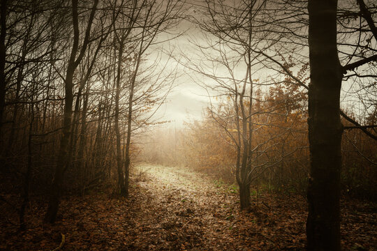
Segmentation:
{"type": "Polygon", "coordinates": [[[308,250],[340,250],[342,125],[341,65],[337,53],[337,1],[309,0],[309,215],[308,250]]]}

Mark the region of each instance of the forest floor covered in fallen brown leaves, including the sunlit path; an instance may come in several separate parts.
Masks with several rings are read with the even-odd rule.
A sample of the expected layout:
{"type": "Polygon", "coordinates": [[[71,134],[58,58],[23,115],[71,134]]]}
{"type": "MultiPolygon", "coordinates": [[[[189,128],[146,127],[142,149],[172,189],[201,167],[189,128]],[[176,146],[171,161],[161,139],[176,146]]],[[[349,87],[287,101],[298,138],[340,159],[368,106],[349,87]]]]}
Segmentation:
{"type": "MultiPolygon", "coordinates": [[[[300,196],[253,197],[239,211],[237,189],[179,167],[144,165],[129,199],[110,192],[66,197],[55,225],[45,205],[31,203],[28,229],[17,232],[0,211],[0,250],[304,250],[306,201],[300,196]]],[[[342,200],[343,250],[377,250],[376,204],[342,200]]],[[[1,209],[1,207],[0,207],[1,209]]]]}

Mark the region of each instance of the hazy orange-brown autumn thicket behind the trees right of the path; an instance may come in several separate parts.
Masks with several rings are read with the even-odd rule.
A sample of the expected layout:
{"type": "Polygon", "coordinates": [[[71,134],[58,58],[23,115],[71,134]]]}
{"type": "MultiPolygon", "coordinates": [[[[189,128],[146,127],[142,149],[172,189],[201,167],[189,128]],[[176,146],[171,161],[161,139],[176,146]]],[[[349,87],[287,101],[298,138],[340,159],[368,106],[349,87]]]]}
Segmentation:
{"type": "MultiPolygon", "coordinates": [[[[285,79],[288,83],[289,79],[285,79]]],[[[247,105],[247,104],[246,104],[247,105]]],[[[202,121],[188,121],[184,128],[154,130],[143,144],[140,161],[160,165],[184,165],[235,183],[237,153],[230,137],[237,135],[230,98],[203,112],[202,121]],[[228,121],[213,118],[211,109],[228,121]]],[[[346,121],[343,121],[347,125],[346,121]]],[[[309,149],[306,93],[299,86],[281,84],[258,89],[253,105],[252,187],[270,192],[306,195],[309,149]]],[[[343,136],[342,190],[345,195],[376,199],[374,139],[359,130],[343,136]]]]}

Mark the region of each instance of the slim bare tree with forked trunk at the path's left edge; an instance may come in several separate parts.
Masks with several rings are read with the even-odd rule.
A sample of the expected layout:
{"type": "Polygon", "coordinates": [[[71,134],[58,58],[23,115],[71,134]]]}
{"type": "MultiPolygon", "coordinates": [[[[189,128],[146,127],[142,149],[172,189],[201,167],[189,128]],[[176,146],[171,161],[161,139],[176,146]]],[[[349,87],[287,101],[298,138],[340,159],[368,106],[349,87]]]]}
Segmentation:
{"type": "MultiPolygon", "coordinates": [[[[134,105],[135,101],[140,99],[140,97],[135,97],[135,86],[138,84],[138,78],[142,76],[142,72],[140,72],[142,58],[151,45],[161,43],[161,41],[158,41],[158,34],[167,31],[179,22],[182,4],[178,1],[170,1],[168,3],[146,0],[141,2],[133,1],[129,9],[131,13],[128,16],[123,17],[123,13],[119,14],[117,22],[114,22],[114,38],[118,51],[114,129],[117,135],[118,184],[121,196],[125,197],[128,197],[128,176],[131,162],[131,132],[133,130],[133,120],[135,119],[133,115],[135,110],[134,105]],[[132,48],[132,50],[128,49],[128,51],[125,51],[126,47],[132,48]],[[124,53],[126,53],[126,55],[124,55],[124,53]],[[131,63],[124,63],[124,58],[126,58],[126,62],[128,62],[127,59],[130,59],[131,63]],[[125,70],[128,70],[128,74],[122,75],[125,70]],[[128,79],[126,79],[126,77],[128,77],[128,79]],[[122,160],[121,131],[119,128],[119,116],[121,115],[119,101],[122,80],[126,80],[126,83],[128,83],[124,161],[122,160]]],[[[141,84],[149,83],[142,82],[141,84]]],[[[158,86],[153,86],[153,82],[151,82],[148,89],[149,92],[151,92],[151,90],[157,90],[159,88],[158,86]]]]}

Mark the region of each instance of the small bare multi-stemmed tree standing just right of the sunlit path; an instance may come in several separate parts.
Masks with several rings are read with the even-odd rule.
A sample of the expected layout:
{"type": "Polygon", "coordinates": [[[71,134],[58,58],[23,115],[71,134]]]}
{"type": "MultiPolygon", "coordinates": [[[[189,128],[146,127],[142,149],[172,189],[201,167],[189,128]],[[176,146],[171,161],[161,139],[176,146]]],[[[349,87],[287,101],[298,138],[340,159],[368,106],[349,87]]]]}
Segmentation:
{"type": "Polygon", "coordinates": [[[207,45],[196,43],[200,52],[205,55],[205,60],[188,66],[216,82],[204,84],[204,87],[211,91],[210,95],[220,98],[228,96],[232,101],[232,123],[226,117],[229,114],[223,113],[221,109],[210,110],[213,119],[226,130],[237,149],[235,177],[239,185],[241,208],[248,208],[251,203],[251,182],[269,167],[281,162],[281,159],[260,161],[260,157],[272,147],[268,146],[272,139],[281,135],[274,135],[261,142],[257,142],[253,137],[253,131],[267,126],[258,125],[255,119],[261,111],[253,108],[254,89],[263,84],[276,84],[271,81],[261,83],[258,77],[260,70],[266,66],[263,62],[265,55],[260,52],[273,50],[276,43],[276,40],[272,43],[265,40],[266,36],[269,36],[269,31],[261,25],[265,24],[265,6],[266,1],[206,1],[203,15],[207,15],[208,20],[195,20],[205,31],[207,45]]]}

